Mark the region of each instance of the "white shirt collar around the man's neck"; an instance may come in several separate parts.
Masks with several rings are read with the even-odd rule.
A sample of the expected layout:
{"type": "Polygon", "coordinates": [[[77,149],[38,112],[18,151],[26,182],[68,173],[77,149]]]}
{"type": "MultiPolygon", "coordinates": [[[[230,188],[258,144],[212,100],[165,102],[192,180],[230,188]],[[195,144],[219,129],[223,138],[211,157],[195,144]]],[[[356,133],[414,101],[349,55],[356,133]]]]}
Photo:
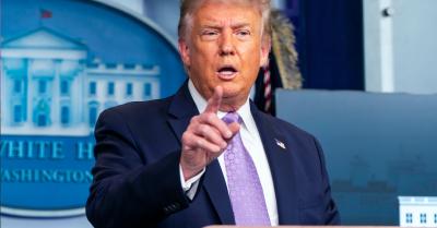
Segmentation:
{"type": "MultiPolygon", "coordinates": [[[[191,94],[192,99],[194,100],[194,104],[199,110],[199,113],[202,113],[206,108],[208,101],[202,97],[202,95],[200,95],[198,89],[194,87],[194,84],[192,84],[191,80],[188,81],[188,89],[191,94]]],[[[246,103],[237,110],[237,113],[241,118],[245,128],[249,132],[257,131],[257,127],[255,125],[255,120],[253,120],[251,111],[250,111],[249,97],[247,98],[246,103]]],[[[225,115],[226,115],[226,112],[223,112],[223,111],[217,112],[217,116],[221,119],[225,115]]]]}

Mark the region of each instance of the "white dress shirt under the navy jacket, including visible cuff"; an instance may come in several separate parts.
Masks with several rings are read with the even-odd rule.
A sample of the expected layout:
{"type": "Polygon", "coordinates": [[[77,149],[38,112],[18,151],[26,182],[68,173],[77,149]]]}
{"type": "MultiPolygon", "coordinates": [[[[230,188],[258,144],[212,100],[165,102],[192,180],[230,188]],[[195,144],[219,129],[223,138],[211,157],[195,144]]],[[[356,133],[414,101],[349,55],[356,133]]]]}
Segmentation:
{"type": "MultiPolygon", "coordinates": [[[[191,94],[191,97],[194,100],[194,104],[200,113],[204,111],[206,108],[208,101],[199,94],[192,84],[191,80],[188,82],[188,88],[191,94]]],[[[243,140],[243,144],[251,156],[255,167],[257,168],[258,176],[260,178],[262,191],[265,199],[267,209],[269,212],[270,224],[272,226],[276,226],[279,224],[277,220],[277,206],[276,206],[276,196],[274,194],[273,179],[270,171],[270,166],[267,159],[265,151],[261,142],[261,137],[258,132],[258,128],[255,123],[253,117],[250,111],[249,98],[247,101],[237,110],[237,113],[243,119],[243,124],[240,125],[240,135],[243,140]]],[[[226,112],[218,111],[218,118],[223,118],[226,112]]],[[[227,187],[227,176],[226,176],[226,166],[224,160],[224,154],[218,156],[218,164],[222,168],[223,177],[226,181],[227,187]]],[[[193,199],[196,194],[196,190],[199,184],[199,179],[204,173],[204,169],[202,172],[197,175],[196,177],[185,181],[182,169],[179,166],[180,170],[180,181],[182,184],[182,189],[186,191],[188,197],[193,199]]]]}

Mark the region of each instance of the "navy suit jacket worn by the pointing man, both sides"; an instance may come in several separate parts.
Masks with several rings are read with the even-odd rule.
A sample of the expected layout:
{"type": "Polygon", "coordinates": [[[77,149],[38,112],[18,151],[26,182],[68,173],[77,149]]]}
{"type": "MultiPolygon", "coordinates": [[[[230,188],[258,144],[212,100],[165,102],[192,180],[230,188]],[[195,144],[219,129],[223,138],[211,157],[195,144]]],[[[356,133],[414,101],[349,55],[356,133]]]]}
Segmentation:
{"type": "MultiPolygon", "coordinates": [[[[280,225],[339,224],[322,149],[298,128],[250,105],[271,168],[280,225]],[[277,145],[283,142],[285,148],[277,145]]],[[[235,224],[217,160],[192,201],[179,177],[180,139],[199,115],[187,83],[176,95],[102,112],[86,215],[95,227],[203,227],[235,224]]]]}

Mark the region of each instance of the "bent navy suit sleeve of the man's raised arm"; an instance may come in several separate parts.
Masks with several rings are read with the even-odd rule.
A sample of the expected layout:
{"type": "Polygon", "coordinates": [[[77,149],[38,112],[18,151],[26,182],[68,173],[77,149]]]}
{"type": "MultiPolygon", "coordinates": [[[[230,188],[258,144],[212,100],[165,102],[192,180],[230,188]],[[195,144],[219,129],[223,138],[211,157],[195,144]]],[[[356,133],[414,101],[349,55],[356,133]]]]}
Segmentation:
{"type": "Polygon", "coordinates": [[[188,206],[179,152],[147,164],[122,115],[104,111],[96,124],[95,166],[86,216],[94,227],[151,227],[188,206]]]}

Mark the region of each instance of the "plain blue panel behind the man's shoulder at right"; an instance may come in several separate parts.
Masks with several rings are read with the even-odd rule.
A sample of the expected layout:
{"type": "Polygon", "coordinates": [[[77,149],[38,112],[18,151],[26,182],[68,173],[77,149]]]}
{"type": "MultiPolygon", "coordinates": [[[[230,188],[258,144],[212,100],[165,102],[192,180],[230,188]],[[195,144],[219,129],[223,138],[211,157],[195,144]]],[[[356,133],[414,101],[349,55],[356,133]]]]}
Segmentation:
{"type": "Polygon", "coordinates": [[[437,196],[437,95],[276,95],[277,117],[319,139],[344,225],[397,226],[398,196],[437,196]]]}

